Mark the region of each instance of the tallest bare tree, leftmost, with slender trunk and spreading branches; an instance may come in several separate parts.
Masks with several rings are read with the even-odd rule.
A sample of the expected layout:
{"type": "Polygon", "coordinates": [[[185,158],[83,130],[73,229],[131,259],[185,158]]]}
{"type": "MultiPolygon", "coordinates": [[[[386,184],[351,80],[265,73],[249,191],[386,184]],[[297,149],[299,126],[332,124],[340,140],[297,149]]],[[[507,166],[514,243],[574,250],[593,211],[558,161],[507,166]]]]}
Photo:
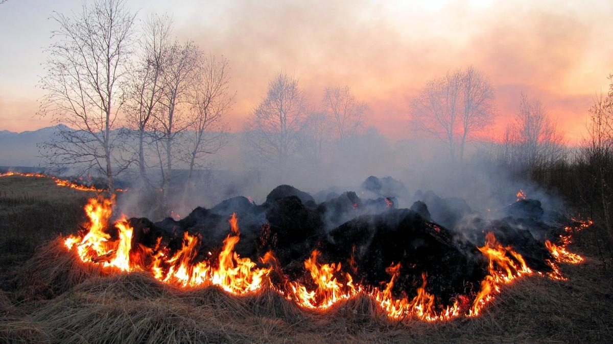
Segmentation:
{"type": "MultiPolygon", "coordinates": [[[[51,114],[59,126],[58,138],[42,144],[48,162],[59,166],[95,168],[114,189],[113,137],[118,111],[123,104],[121,82],[131,51],[134,14],[122,0],[101,0],[69,18],[52,17],[46,75],[40,87],[46,95],[40,113],[51,114]]],[[[84,171],[85,171],[84,170],[84,171]]]]}

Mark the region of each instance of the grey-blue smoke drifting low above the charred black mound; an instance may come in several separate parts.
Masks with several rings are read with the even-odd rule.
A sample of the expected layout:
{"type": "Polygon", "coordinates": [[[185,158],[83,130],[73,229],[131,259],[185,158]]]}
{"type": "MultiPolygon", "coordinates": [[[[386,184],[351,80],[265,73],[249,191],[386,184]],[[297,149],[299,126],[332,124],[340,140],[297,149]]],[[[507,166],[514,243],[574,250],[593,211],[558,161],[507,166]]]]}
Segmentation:
{"type": "MultiPolygon", "coordinates": [[[[282,184],[310,193],[318,204],[335,198],[335,202],[351,206],[356,201],[347,192],[355,192],[362,203],[359,214],[384,211],[385,197],[392,199],[394,208],[411,208],[414,202],[422,201],[432,220],[459,231],[470,230],[468,227],[475,218],[494,220],[506,216],[504,211],[517,200],[519,190],[527,198],[540,200],[545,209],[564,211],[560,198],[532,182],[512,178],[497,166],[491,146],[481,143],[469,144],[465,160],[459,162],[450,160],[447,149],[431,138],[392,141],[370,128],[342,146],[330,143],[321,161],[295,154],[284,173],[269,162],[249,157],[244,144],[240,135],[232,135],[230,144],[211,157],[209,162],[214,167],[196,171],[194,184],[187,193],[182,184],[185,171],[177,166],[167,209],[172,210],[173,217],[183,218],[197,206],[211,209],[235,196],[262,204],[268,193],[282,184]],[[378,177],[380,187],[368,185],[365,179],[369,176],[378,177]]],[[[155,183],[155,170],[150,171],[150,178],[155,183]]],[[[132,180],[132,192],[120,197],[118,210],[129,217],[152,220],[169,215],[156,208],[151,193],[139,190],[143,185],[135,182],[138,180],[132,180]]],[[[341,225],[356,214],[345,216],[337,212],[326,215],[327,228],[341,225]]]]}

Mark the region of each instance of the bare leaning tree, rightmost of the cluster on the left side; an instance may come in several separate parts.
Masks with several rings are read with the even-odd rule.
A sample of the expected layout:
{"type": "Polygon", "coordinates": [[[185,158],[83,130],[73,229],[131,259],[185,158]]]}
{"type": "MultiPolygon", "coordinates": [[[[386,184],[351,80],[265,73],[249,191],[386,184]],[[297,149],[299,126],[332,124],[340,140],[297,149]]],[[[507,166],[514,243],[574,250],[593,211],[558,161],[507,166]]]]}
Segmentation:
{"type": "Polygon", "coordinates": [[[227,143],[223,118],[232,105],[229,92],[228,62],[225,58],[208,56],[200,66],[191,95],[188,131],[183,143],[188,163],[185,192],[192,179],[194,167],[200,166],[203,155],[215,154],[227,143]]]}

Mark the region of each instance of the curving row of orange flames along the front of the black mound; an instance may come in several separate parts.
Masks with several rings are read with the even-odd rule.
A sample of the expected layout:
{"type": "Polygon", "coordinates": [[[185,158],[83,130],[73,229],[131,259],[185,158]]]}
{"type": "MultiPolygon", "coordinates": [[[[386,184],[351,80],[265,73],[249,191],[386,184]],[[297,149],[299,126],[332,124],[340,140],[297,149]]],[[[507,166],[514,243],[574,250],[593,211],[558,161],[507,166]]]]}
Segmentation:
{"type": "MultiPolygon", "coordinates": [[[[230,233],[224,239],[217,259],[211,260],[211,252],[200,254],[202,238],[199,234],[185,232],[180,249],[174,252],[162,244],[161,237],[158,237],[154,247],[135,245],[132,242],[134,228],[123,215],[109,227],[114,204],[114,197],[91,198],[85,206],[89,219],[86,233],[64,239],[67,249],[74,251],[83,262],[102,264],[103,267],[116,271],[149,272],[160,282],[181,288],[216,285],[231,294],[261,290],[265,284],[270,283],[270,273],[278,269],[272,252],[261,258],[261,264],[266,264],[266,267],[261,267],[262,265],[249,258],[242,258],[235,252],[235,245],[240,239],[236,214],[232,214],[229,219],[230,233]]],[[[579,225],[577,228],[585,227],[579,225]]],[[[566,250],[566,245],[571,242],[570,235],[560,238],[562,244],[559,245],[546,242],[554,260],[564,263],[582,261],[581,256],[566,250]]],[[[398,320],[412,317],[424,321],[443,321],[460,315],[477,316],[495,294],[500,292],[501,285],[533,274],[524,258],[512,247],[501,245],[493,233],[487,233],[484,246],[478,249],[489,260],[489,275],[482,280],[481,289],[474,297],[472,305],[466,304],[468,296],[465,295],[457,296],[451,305],[442,304],[435,295],[428,293],[426,272],[422,273],[422,284],[413,298],[407,297],[406,294],[394,296],[392,291],[401,274],[400,263],[387,267],[386,272],[390,279],[381,282],[384,285],[382,289],[361,285],[354,281],[349,272],[343,270],[341,263],[319,263],[321,253],[318,250],[313,250],[304,262],[307,271],[305,280],[286,279],[283,286],[278,289],[273,287],[273,290],[300,307],[316,310],[326,310],[340,301],[362,294],[371,297],[389,318],[398,320]],[[461,307],[457,299],[463,300],[461,307]]],[[[547,263],[552,267],[552,272],[547,273],[550,278],[564,279],[554,261],[549,260],[547,263]]],[[[350,260],[349,267],[355,273],[357,266],[352,264],[354,265],[355,261],[351,263],[350,260]]],[[[278,272],[283,274],[280,270],[278,272]]],[[[538,274],[542,275],[541,272],[538,274]]]]}

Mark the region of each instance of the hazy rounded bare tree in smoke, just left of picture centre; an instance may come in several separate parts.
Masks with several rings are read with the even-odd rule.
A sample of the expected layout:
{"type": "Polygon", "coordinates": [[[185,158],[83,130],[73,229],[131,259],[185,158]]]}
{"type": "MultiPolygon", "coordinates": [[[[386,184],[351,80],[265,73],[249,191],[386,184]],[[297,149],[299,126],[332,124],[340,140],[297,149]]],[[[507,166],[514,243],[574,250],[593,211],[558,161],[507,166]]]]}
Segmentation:
{"type": "Polygon", "coordinates": [[[251,152],[283,176],[288,160],[299,146],[299,133],[306,116],[307,102],[298,80],[280,73],[268,83],[266,98],[245,124],[245,138],[251,152]]]}

